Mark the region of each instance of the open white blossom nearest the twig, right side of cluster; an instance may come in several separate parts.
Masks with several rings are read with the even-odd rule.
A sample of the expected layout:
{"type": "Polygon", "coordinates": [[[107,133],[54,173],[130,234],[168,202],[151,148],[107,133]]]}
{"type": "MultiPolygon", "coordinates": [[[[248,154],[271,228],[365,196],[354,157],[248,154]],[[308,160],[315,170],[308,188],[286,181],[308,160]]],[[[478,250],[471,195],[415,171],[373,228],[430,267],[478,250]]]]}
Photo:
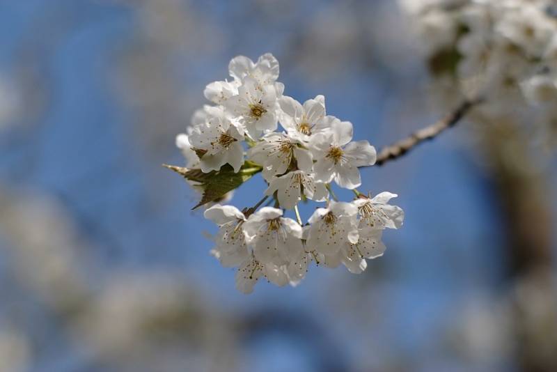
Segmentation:
{"type": "Polygon", "coordinates": [[[316,160],[315,180],[355,189],[361,185],[359,166],[375,164],[375,148],[368,141],[352,140],[352,123],[334,116],[326,118],[330,132],[315,135],[310,148],[316,160]]]}

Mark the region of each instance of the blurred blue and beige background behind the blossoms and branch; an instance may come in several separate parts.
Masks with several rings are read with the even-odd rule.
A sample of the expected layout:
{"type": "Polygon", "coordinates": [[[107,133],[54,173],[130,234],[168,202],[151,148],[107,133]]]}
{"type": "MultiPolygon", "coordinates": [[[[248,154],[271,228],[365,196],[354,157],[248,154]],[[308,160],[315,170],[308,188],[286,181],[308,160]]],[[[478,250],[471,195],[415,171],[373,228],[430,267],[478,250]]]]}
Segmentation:
{"type": "Polygon", "coordinates": [[[556,164],[528,133],[465,121],[364,170],[406,212],[386,254],[252,295],[161,166],[238,54],[377,148],[446,114],[395,1],[0,0],[0,24],[0,371],[557,371],[556,164]]]}

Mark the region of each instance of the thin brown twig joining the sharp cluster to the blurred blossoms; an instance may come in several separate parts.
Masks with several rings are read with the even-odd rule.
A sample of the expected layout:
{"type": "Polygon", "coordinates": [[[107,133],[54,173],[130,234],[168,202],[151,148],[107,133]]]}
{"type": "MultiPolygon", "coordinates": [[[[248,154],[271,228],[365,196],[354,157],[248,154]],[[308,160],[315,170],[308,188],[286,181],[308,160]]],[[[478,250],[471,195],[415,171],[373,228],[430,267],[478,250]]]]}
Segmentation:
{"type": "Polygon", "coordinates": [[[460,121],[460,119],[464,118],[464,116],[466,116],[466,114],[468,114],[469,111],[473,109],[473,107],[476,107],[483,101],[483,98],[464,100],[460,104],[460,106],[458,106],[453,112],[448,114],[448,116],[446,116],[445,118],[442,118],[440,121],[437,121],[432,125],[428,125],[427,127],[423,127],[421,130],[417,130],[416,132],[410,134],[409,137],[401,139],[391,146],[383,148],[379,152],[379,155],[377,155],[377,162],[375,162],[375,164],[383,165],[385,162],[398,159],[422,142],[434,139],[448,128],[455,126],[460,121]]]}

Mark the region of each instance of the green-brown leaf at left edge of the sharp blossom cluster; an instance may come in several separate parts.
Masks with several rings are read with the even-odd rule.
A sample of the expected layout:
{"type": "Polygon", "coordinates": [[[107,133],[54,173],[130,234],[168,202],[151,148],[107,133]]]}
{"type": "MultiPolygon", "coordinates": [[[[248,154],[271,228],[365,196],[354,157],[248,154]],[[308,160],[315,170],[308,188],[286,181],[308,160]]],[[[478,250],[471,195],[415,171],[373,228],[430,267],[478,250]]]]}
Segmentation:
{"type": "Polygon", "coordinates": [[[237,189],[242,183],[262,170],[260,165],[249,161],[244,162],[238,173],[234,173],[232,166],[228,164],[223,165],[219,171],[208,173],[203,173],[201,169],[188,169],[167,164],[163,164],[163,166],[175,171],[187,180],[200,184],[199,187],[203,189],[203,196],[201,201],[192,209],[222,198],[227,192],[237,189]]]}

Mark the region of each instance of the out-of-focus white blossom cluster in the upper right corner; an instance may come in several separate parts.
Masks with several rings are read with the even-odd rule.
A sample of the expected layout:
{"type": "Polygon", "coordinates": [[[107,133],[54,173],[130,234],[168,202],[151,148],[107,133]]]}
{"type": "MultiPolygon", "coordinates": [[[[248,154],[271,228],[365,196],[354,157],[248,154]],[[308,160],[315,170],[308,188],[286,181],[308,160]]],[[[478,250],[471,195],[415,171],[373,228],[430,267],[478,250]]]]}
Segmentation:
{"type": "Polygon", "coordinates": [[[529,109],[529,121],[535,112],[535,121],[557,127],[555,0],[399,1],[417,21],[435,75],[454,75],[464,93],[485,96],[487,114],[529,109]]]}

